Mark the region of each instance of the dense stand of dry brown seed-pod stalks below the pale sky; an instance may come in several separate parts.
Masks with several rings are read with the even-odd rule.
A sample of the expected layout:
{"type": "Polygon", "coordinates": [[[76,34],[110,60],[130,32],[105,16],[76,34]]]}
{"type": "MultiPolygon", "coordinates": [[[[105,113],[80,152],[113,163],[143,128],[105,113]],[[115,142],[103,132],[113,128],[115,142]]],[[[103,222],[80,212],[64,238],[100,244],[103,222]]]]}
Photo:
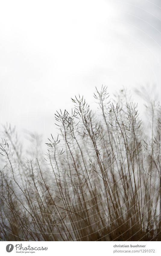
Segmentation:
{"type": "Polygon", "coordinates": [[[71,114],[55,115],[59,136],[44,158],[35,149],[26,159],[5,127],[2,240],[161,241],[160,107],[149,108],[145,135],[137,105],[121,95],[110,103],[106,87],[96,90],[97,114],[72,99],[71,114]]]}

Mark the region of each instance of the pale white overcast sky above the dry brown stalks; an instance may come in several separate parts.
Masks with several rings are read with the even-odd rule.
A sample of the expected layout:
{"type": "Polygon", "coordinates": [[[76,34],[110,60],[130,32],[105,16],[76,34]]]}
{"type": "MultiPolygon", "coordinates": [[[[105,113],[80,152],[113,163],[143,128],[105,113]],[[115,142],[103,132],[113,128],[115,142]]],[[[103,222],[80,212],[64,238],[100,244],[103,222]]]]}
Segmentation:
{"type": "Polygon", "coordinates": [[[0,123],[49,137],[55,111],[78,93],[94,106],[102,84],[160,98],[160,30],[159,0],[1,1],[0,123]]]}

